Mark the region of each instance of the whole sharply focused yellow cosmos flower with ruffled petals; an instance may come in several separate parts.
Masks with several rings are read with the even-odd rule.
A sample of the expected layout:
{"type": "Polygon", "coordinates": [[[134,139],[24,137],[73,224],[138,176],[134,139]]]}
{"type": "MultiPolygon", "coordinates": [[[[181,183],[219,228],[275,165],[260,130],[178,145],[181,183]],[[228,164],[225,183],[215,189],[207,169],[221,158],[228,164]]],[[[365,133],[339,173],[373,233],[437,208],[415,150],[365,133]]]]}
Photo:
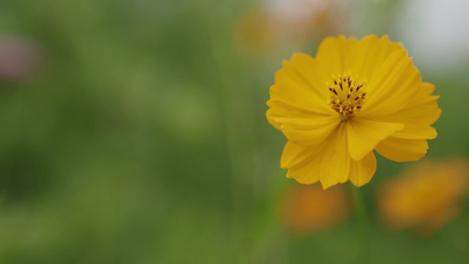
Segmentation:
{"type": "Polygon", "coordinates": [[[400,43],[387,36],[326,38],[315,58],[295,53],[275,75],[267,120],[288,139],[280,166],[324,189],[368,183],[373,150],[396,161],[426,154],[440,117],[435,86],[422,82],[400,43]]]}

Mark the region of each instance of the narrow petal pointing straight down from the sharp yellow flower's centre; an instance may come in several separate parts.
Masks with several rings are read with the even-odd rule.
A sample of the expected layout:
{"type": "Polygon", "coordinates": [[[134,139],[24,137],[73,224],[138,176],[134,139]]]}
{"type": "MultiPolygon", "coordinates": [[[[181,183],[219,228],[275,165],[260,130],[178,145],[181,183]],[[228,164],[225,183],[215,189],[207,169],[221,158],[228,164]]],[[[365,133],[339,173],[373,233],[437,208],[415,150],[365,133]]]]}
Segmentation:
{"type": "Polygon", "coordinates": [[[320,166],[320,181],[323,189],[339,182],[346,182],[350,169],[346,125],[341,123],[327,141],[320,166]]]}

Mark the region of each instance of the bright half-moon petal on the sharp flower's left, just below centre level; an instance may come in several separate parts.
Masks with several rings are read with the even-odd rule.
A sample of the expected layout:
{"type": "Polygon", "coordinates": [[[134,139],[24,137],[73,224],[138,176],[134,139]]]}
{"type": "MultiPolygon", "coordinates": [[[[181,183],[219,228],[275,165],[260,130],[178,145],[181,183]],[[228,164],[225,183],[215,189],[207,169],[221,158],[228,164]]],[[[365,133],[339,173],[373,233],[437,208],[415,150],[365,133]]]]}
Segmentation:
{"type": "Polygon", "coordinates": [[[272,119],[280,124],[280,130],[289,141],[300,145],[321,143],[340,123],[337,116],[315,117],[313,119],[272,117],[272,119]]]}

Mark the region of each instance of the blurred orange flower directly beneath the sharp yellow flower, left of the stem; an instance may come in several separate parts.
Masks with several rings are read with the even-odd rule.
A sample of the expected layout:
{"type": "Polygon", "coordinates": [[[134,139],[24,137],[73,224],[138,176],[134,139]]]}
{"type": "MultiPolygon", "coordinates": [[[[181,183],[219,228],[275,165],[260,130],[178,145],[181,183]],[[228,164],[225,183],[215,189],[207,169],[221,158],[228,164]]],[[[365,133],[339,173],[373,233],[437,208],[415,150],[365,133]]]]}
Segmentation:
{"type": "Polygon", "coordinates": [[[282,207],[282,220],[293,235],[310,235],[345,219],[350,212],[347,193],[337,186],[323,190],[318,185],[289,190],[282,207]]]}

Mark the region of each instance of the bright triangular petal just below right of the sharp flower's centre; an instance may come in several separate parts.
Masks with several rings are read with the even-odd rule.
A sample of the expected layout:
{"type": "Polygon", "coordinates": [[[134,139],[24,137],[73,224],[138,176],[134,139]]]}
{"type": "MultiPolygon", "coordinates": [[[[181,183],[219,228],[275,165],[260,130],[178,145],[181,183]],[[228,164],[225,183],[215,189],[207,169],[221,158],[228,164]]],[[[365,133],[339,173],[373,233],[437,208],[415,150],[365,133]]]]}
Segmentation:
{"type": "Polygon", "coordinates": [[[354,160],[361,160],[380,141],[404,128],[404,125],[401,123],[377,122],[362,118],[353,118],[346,123],[348,151],[354,160]]]}

